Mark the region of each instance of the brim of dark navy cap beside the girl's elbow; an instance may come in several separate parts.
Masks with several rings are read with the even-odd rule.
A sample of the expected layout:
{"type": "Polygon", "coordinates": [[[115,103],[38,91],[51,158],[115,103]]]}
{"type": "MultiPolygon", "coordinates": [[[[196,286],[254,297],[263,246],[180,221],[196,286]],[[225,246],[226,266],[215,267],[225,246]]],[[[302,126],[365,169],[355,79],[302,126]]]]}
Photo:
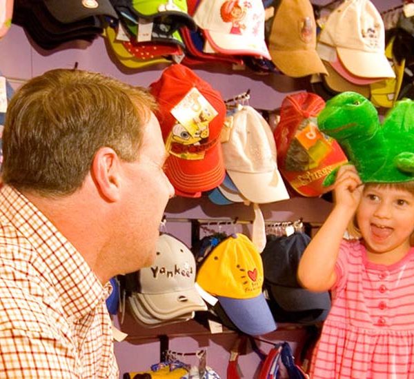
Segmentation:
{"type": "Polygon", "coordinates": [[[310,309],[331,309],[328,291],[312,292],[301,287],[267,285],[273,298],[286,311],[306,311],[310,309]]]}

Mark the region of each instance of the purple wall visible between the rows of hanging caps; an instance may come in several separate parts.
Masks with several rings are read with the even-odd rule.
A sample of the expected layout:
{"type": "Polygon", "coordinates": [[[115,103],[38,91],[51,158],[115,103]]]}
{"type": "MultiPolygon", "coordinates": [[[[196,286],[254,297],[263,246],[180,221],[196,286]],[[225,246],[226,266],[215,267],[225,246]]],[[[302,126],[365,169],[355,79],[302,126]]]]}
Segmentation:
{"type": "MultiPolygon", "coordinates": [[[[328,1],[313,1],[328,3],[328,1]]],[[[374,1],[378,10],[386,10],[399,6],[401,0],[374,1]]],[[[144,70],[124,70],[119,68],[108,56],[104,41],[98,38],[93,43],[68,43],[55,51],[43,51],[32,45],[25,32],[17,25],[12,25],[6,37],[0,40],[0,72],[17,88],[23,81],[30,79],[52,68],[73,68],[75,62],[84,70],[94,70],[110,74],[122,81],[134,85],[148,86],[158,79],[165,66],[153,66],[144,70]]],[[[282,74],[259,75],[253,72],[232,71],[214,65],[195,69],[201,78],[208,81],[213,88],[219,90],[224,99],[231,98],[250,89],[250,105],[257,108],[273,110],[280,106],[284,96],[290,92],[303,90],[308,86],[308,79],[292,79],[282,74]]],[[[295,221],[302,217],[306,222],[322,223],[331,209],[330,203],[320,198],[291,198],[288,201],[262,206],[264,216],[273,221],[295,221]]],[[[240,220],[253,219],[253,211],[244,205],[213,206],[208,201],[174,198],[167,208],[166,216],[170,221],[167,230],[181,238],[190,246],[190,223],[187,218],[219,218],[231,219],[238,216],[240,220]],[[173,220],[177,219],[179,220],[173,220]]],[[[248,233],[243,225],[239,230],[248,233]]],[[[127,320],[128,321],[128,320],[127,320]]],[[[129,320],[130,321],[130,320],[129,320]]],[[[117,322],[117,320],[116,320],[117,322]]],[[[159,360],[159,343],[152,338],[158,333],[167,333],[168,329],[151,332],[143,331],[131,322],[123,328],[130,332],[132,342],[116,342],[115,351],[121,374],[126,371],[141,371],[159,360]],[[139,336],[147,336],[139,338],[139,336]]],[[[209,334],[199,331],[197,335],[188,325],[182,325],[171,334],[170,348],[176,351],[195,351],[200,347],[207,349],[207,363],[216,369],[222,378],[226,377],[229,349],[236,338],[233,333],[209,334]]],[[[276,331],[268,336],[269,340],[288,340],[300,345],[304,340],[303,330],[276,331]]],[[[270,349],[270,345],[262,344],[262,349],[270,349]]],[[[254,353],[240,359],[240,367],[244,378],[253,378],[259,359],[254,353]]]]}

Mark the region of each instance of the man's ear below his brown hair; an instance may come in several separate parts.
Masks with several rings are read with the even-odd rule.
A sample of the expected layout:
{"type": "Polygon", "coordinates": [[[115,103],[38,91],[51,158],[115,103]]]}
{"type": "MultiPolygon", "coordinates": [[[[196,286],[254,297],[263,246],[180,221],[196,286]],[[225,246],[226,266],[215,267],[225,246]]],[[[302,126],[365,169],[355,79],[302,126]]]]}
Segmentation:
{"type": "Polygon", "coordinates": [[[119,200],[121,185],[121,165],[119,156],[110,147],[101,147],[95,154],[91,175],[98,192],[107,201],[119,200]]]}

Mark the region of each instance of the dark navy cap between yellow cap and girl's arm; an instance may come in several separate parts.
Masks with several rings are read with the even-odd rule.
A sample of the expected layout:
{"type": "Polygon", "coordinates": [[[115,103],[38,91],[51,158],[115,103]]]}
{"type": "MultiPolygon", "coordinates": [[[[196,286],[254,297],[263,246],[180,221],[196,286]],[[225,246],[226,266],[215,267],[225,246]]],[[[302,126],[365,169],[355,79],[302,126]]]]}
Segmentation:
{"type": "MultiPolygon", "coordinates": [[[[297,281],[299,260],[310,241],[311,237],[303,232],[295,232],[290,236],[274,236],[268,238],[261,254],[264,287],[285,311],[319,309],[322,313],[331,308],[328,291],[308,291],[297,281]]],[[[327,313],[324,312],[324,316],[326,315],[327,313]]]]}

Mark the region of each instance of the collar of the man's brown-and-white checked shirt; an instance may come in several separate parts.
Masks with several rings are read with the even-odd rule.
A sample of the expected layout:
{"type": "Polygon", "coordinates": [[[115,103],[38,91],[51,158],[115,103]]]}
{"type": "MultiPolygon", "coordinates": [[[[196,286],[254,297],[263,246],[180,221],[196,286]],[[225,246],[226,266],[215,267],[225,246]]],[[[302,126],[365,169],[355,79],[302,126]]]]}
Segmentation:
{"type": "Polygon", "coordinates": [[[41,259],[50,269],[42,275],[55,287],[68,318],[78,320],[106,299],[110,286],[101,285],[83,256],[28,198],[3,185],[0,209],[0,214],[31,245],[35,252],[32,265],[41,259]]]}

